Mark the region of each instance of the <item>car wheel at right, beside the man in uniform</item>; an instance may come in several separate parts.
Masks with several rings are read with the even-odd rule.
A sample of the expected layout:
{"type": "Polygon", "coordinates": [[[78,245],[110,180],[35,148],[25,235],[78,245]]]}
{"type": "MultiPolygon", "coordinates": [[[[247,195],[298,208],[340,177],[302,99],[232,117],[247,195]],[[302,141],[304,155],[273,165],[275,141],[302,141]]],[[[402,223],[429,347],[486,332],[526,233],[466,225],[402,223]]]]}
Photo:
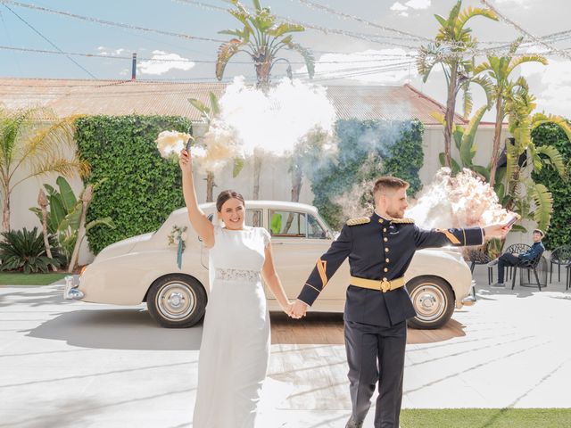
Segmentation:
{"type": "Polygon", "coordinates": [[[418,276],[407,283],[417,316],[409,320],[412,328],[434,329],[445,325],[454,312],[454,292],[437,276],[418,276]]]}

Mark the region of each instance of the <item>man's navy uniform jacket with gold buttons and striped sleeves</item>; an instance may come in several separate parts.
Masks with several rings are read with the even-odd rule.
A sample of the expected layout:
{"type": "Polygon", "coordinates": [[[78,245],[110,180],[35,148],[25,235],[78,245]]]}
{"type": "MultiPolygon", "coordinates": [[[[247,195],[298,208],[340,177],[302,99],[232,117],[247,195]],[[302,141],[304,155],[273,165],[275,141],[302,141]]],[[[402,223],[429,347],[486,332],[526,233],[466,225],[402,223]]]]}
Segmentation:
{"type": "MultiPolygon", "coordinates": [[[[480,227],[423,230],[409,218],[387,220],[377,213],[370,218],[349,220],[341,235],[317,261],[298,299],[312,305],[347,257],[352,276],[390,281],[404,275],[417,250],[444,245],[479,245],[483,239],[480,227]]],[[[416,315],[405,287],[390,292],[351,284],[347,288],[346,321],[391,326],[416,315]]]]}

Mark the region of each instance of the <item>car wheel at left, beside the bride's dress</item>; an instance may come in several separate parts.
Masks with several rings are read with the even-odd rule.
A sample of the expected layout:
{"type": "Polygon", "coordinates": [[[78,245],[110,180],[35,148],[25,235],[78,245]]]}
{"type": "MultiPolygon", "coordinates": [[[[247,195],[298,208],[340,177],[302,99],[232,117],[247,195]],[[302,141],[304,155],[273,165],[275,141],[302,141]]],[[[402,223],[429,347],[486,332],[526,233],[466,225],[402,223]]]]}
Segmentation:
{"type": "Polygon", "coordinates": [[[186,328],[201,320],[206,301],[206,292],[200,282],[192,276],[170,274],[151,285],[146,306],[161,326],[186,328]]]}

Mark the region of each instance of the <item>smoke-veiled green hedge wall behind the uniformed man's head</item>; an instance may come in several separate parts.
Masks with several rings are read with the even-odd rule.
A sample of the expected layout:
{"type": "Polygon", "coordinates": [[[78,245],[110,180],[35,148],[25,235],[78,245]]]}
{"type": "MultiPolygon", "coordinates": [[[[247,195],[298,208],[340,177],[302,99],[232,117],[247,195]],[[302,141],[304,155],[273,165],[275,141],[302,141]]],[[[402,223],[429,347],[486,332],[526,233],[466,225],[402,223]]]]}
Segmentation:
{"type": "Polygon", "coordinates": [[[341,206],[333,201],[352,185],[390,175],[407,180],[411,196],[420,190],[424,127],[419,120],[338,120],[335,131],[338,152],[334,159],[316,165],[311,183],[313,204],[330,226],[338,230],[346,220],[341,206]]]}

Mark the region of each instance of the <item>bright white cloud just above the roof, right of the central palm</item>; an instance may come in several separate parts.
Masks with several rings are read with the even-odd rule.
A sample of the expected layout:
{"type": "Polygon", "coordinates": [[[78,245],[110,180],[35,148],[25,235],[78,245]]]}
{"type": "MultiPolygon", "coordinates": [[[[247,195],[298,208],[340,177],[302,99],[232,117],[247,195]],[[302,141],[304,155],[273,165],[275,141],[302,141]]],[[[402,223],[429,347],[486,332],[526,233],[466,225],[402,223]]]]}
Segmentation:
{"type": "MultiPolygon", "coordinates": [[[[315,78],[343,78],[361,83],[402,85],[417,74],[415,52],[401,48],[381,49],[355,53],[326,53],[316,62],[315,78]],[[411,55],[411,56],[406,56],[411,55]]],[[[296,72],[303,73],[302,67],[296,72]]]]}

